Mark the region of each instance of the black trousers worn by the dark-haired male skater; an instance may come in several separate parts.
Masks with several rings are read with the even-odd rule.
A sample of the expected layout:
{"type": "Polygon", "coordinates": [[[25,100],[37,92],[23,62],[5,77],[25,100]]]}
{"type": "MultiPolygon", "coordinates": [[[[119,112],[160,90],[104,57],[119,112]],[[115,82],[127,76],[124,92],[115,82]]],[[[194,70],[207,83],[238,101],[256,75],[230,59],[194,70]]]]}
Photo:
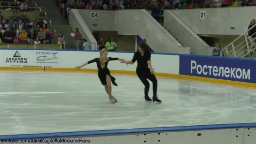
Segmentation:
{"type": "Polygon", "coordinates": [[[144,89],[145,96],[148,95],[148,91],[149,91],[149,83],[148,83],[147,79],[153,83],[153,95],[156,96],[157,79],[156,79],[155,75],[151,74],[150,70],[142,70],[142,71],[137,70],[136,74],[140,78],[140,81],[145,85],[145,89],[144,89]]]}

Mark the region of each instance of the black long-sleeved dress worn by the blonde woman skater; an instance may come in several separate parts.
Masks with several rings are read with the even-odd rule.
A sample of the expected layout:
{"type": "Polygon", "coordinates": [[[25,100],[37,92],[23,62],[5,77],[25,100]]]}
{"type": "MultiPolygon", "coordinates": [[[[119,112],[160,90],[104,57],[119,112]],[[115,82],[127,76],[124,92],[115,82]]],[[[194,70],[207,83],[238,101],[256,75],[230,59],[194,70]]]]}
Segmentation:
{"type": "Polygon", "coordinates": [[[116,78],[110,75],[110,71],[109,71],[109,68],[108,68],[109,61],[116,61],[116,60],[118,60],[118,58],[109,58],[109,60],[105,62],[105,67],[104,68],[101,68],[101,63],[100,63],[100,59],[99,58],[95,58],[95,59],[93,59],[91,61],[88,61],[88,64],[93,63],[93,62],[97,63],[98,76],[100,78],[100,81],[101,81],[102,85],[106,85],[107,84],[106,75],[109,75],[111,77],[112,83],[115,86],[117,86],[117,84],[115,82],[116,78]]]}

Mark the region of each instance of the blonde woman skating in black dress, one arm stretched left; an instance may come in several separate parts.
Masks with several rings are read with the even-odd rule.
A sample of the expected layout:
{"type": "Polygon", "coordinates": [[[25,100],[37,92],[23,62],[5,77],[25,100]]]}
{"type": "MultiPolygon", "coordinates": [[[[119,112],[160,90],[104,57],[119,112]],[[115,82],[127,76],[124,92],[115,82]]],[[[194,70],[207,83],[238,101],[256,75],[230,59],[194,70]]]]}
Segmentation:
{"type": "Polygon", "coordinates": [[[109,68],[108,68],[108,63],[109,63],[109,61],[116,61],[116,60],[122,61],[122,63],[126,63],[126,61],[123,60],[123,59],[120,59],[120,58],[110,58],[110,57],[107,57],[107,56],[108,56],[108,50],[106,48],[103,48],[101,50],[99,58],[95,58],[91,61],[86,62],[85,64],[83,64],[81,66],[76,66],[75,68],[80,69],[80,68],[86,66],[87,64],[96,62],[97,63],[97,68],[98,68],[98,76],[101,80],[102,85],[105,86],[105,91],[109,95],[109,101],[111,103],[115,103],[115,102],[117,102],[117,99],[114,98],[111,94],[111,91],[112,91],[111,90],[111,82],[115,86],[117,86],[117,84],[115,82],[116,78],[110,75],[109,68]]]}

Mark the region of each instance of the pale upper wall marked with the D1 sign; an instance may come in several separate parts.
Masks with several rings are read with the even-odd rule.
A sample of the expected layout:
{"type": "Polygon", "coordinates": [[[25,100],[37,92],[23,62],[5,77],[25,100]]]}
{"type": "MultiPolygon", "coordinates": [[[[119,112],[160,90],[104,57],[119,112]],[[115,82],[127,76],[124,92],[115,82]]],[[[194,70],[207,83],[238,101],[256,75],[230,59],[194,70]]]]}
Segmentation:
{"type": "Polygon", "coordinates": [[[172,10],[196,34],[241,35],[248,30],[251,19],[255,19],[255,7],[196,8],[172,10]],[[206,18],[200,19],[200,11],[206,18]],[[234,26],[235,30],[230,27],[234,26]]]}

